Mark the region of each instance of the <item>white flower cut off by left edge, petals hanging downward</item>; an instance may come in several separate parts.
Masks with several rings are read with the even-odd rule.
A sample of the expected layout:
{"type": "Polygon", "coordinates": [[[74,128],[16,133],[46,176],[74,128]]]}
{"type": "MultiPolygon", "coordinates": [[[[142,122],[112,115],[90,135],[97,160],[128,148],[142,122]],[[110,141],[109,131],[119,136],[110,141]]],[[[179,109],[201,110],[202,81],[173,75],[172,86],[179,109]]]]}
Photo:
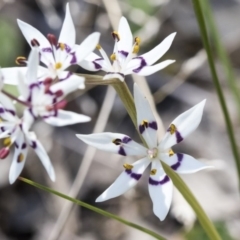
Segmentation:
{"type": "Polygon", "coordinates": [[[36,138],[34,132],[29,132],[31,117],[27,111],[20,119],[16,116],[16,110],[12,101],[0,92],[0,117],[4,121],[0,122],[0,138],[4,147],[0,149],[0,158],[4,159],[9,154],[9,149],[14,146],[14,156],[9,173],[9,182],[12,184],[18,178],[25,165],[28,146],[31,146],[40,161],[45,167],[52,181],[55,181],[55,173],[51,161],[44,150],[42,144],[36,138]]]}

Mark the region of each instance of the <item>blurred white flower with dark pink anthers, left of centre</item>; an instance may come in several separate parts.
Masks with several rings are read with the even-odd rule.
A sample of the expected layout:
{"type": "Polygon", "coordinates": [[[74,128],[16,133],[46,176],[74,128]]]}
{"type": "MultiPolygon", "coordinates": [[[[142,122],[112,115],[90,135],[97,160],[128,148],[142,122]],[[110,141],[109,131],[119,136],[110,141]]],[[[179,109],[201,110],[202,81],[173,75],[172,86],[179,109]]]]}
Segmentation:
{"type": "Polygon", "coordinates": [[[37,79],[38,64],[39,54],[37,49],[33,48],[28,59],[26,77],[24,78],[19,72],[19,84],[17,85],[21,100],[28,105],[32,120],[42,117],[45,122],[54,126],[90,121],[88,116],[62,110],[67,103],[64,97],[77,89],[82,81],[81,78],[70,78],[68,81],[53,85],[50,79],[39,82],[37,79]]]}

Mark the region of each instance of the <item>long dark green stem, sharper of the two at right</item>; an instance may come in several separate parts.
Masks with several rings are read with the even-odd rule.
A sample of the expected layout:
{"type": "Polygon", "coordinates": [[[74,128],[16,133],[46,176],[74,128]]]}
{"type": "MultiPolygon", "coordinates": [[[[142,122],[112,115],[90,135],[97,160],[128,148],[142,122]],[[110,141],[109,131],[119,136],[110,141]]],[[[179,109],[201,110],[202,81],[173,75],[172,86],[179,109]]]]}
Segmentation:
{"type": "Polygon", "coordinates": [[[196,17],[197,17],[197,21],[198,21],[198,25],[199,25],[199,28],[200,28],[204,48],[207,52],[208,63],[209,63],[209,67],[210,67],[210,70],[211,70],[211,73],[212,73],[213,82],[214,82],[214,85],[215,85],[215,88],[216,88],[216,91],[217,91],[217,95],[218,95],[220,105],[222,107],[222,111],[223,111],[223,115],[224,115],[224,119],[225,119],[225,124],[226,124],[226,127],[227,127],[229,140],[230,140],[230,143],[231,143],[232,152],[233,152],[234,159],[235,159],[236,166],[237,166],[238,178],[239,178],[239,181],[240,181],[240,156],[239,156],[239,153],[238,153],[238,147],[237,147],[236,140],[235,140],[235,137],[234,137],[233,126],[232,126],[232,123],[231,123],[231,120],[230,120],[227,105],[226,105],[226,102],[225,102],[225,99],[224,99],[224,95],[223,95],[223,92],[222,92],[222,89],[221,89],[220,82],[218,80],[216,69],[215,69],[215,66],[214,66],[213,55],[212,55],[211,47],[210,47],[208,36],[207,36],[207,30],[206,30],[206,26],[205,26],[205,22],[204,22],[203,10],[202,10],[200,1],[201,0],[192,0],[193,8],[194,8],[194,11],[195,11],[195,14],[196,14],[196,17]]]}

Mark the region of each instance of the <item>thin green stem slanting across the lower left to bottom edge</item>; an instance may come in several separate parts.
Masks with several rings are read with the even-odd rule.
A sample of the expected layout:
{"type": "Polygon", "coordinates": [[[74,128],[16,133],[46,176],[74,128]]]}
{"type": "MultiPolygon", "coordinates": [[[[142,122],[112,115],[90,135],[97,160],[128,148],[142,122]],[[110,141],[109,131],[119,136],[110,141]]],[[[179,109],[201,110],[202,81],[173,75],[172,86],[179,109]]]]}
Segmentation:
{"type": "Polygon", "coordinates": [[[109,218],[115,219],[118,222],[121,222],[121,223],[123,223],[123,224],[125,224],[125,225],[127,225],[129,227],[132,227],[132,228],[135,228],[135,229],[137,229],[139,231],[142,231],[142,232],[144,232],[144,233],[146,233],[146,234],[148,234],[150,236],[153,236],[156,239],[165,240],[165,238],[163,238],[159,234],[157,234],[157,233],[155,233],[155,232],[153,232],[153,231],[151,231],[151,230],[149,230],[147,228],[144,228],[144,227],[139,226],[139,225],[137,225],[135,223],[129,222],[129,221],[123,219],[123,218],[118,217],[117,215],[114,215],[112,213],[104,211],[104,210],[102,210],[100,208],[94,207],[94,206],[92,206],[90,204],[87,204],[85,202],[79,201],[79,200],[77,200],[75,198],[71,198],[71,197],[69,197],[69,196],[67,196],[67,195],[65,195],[63,193],[57,192],[57,191],[55,191],[55,190],[53,190],[51,188],[48,188],[48,187],[45,187],[45,186],[39,184],[39,183],[35,183],[35,182],[33,182],[33,181],[29,180],[29,179],[26,179],[26,178],[23,178],[23,177],[19,177],[19,180],[21,180],[21,181],[23,181],[23,182],[25,182],[25,183],[27,183],[29,185],[32,185],[34,187],[37,187],[37,188],[39,188],[39,189],[41,189],[43,191],[52,193],[52,194],[57,195],[57,196],[59,196],[61,198],[69,200],[69,201],[71,201],[71,202],[73,202],[73,203],[75,203],[75,204],[77,204],[77,205],[79,205],[81,207],[87,208],[87,209],[89,209],[91,211],[94,211],[96,213],[99,213],[99,214],[101,214],[101,215],[103,215],[105,217],[109,217],[109,218]]]}

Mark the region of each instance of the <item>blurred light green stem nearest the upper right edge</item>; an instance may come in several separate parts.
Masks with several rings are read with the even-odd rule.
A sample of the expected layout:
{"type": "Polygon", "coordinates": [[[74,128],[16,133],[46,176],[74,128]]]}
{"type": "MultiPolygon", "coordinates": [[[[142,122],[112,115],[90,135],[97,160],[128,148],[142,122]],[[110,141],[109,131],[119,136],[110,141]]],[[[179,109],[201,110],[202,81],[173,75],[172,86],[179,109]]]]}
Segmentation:
{"type": "Polygon", "coordinates": [[[240,89],[237,85],[237,80],[231,65],[231,61],[228,54],[221,42],[221,38],[214,20],[213,12],[208,0],[200,1],[202,6],[206,22],[208,23],[209,35],[212,37],[213,46],[216,47],[218,57],[222,62],[223,69],[225,71],[226,78],[228,80],[229,87],[232,91],[233,97],[238,109],[239,119],[240,119],[240,89]]]}

